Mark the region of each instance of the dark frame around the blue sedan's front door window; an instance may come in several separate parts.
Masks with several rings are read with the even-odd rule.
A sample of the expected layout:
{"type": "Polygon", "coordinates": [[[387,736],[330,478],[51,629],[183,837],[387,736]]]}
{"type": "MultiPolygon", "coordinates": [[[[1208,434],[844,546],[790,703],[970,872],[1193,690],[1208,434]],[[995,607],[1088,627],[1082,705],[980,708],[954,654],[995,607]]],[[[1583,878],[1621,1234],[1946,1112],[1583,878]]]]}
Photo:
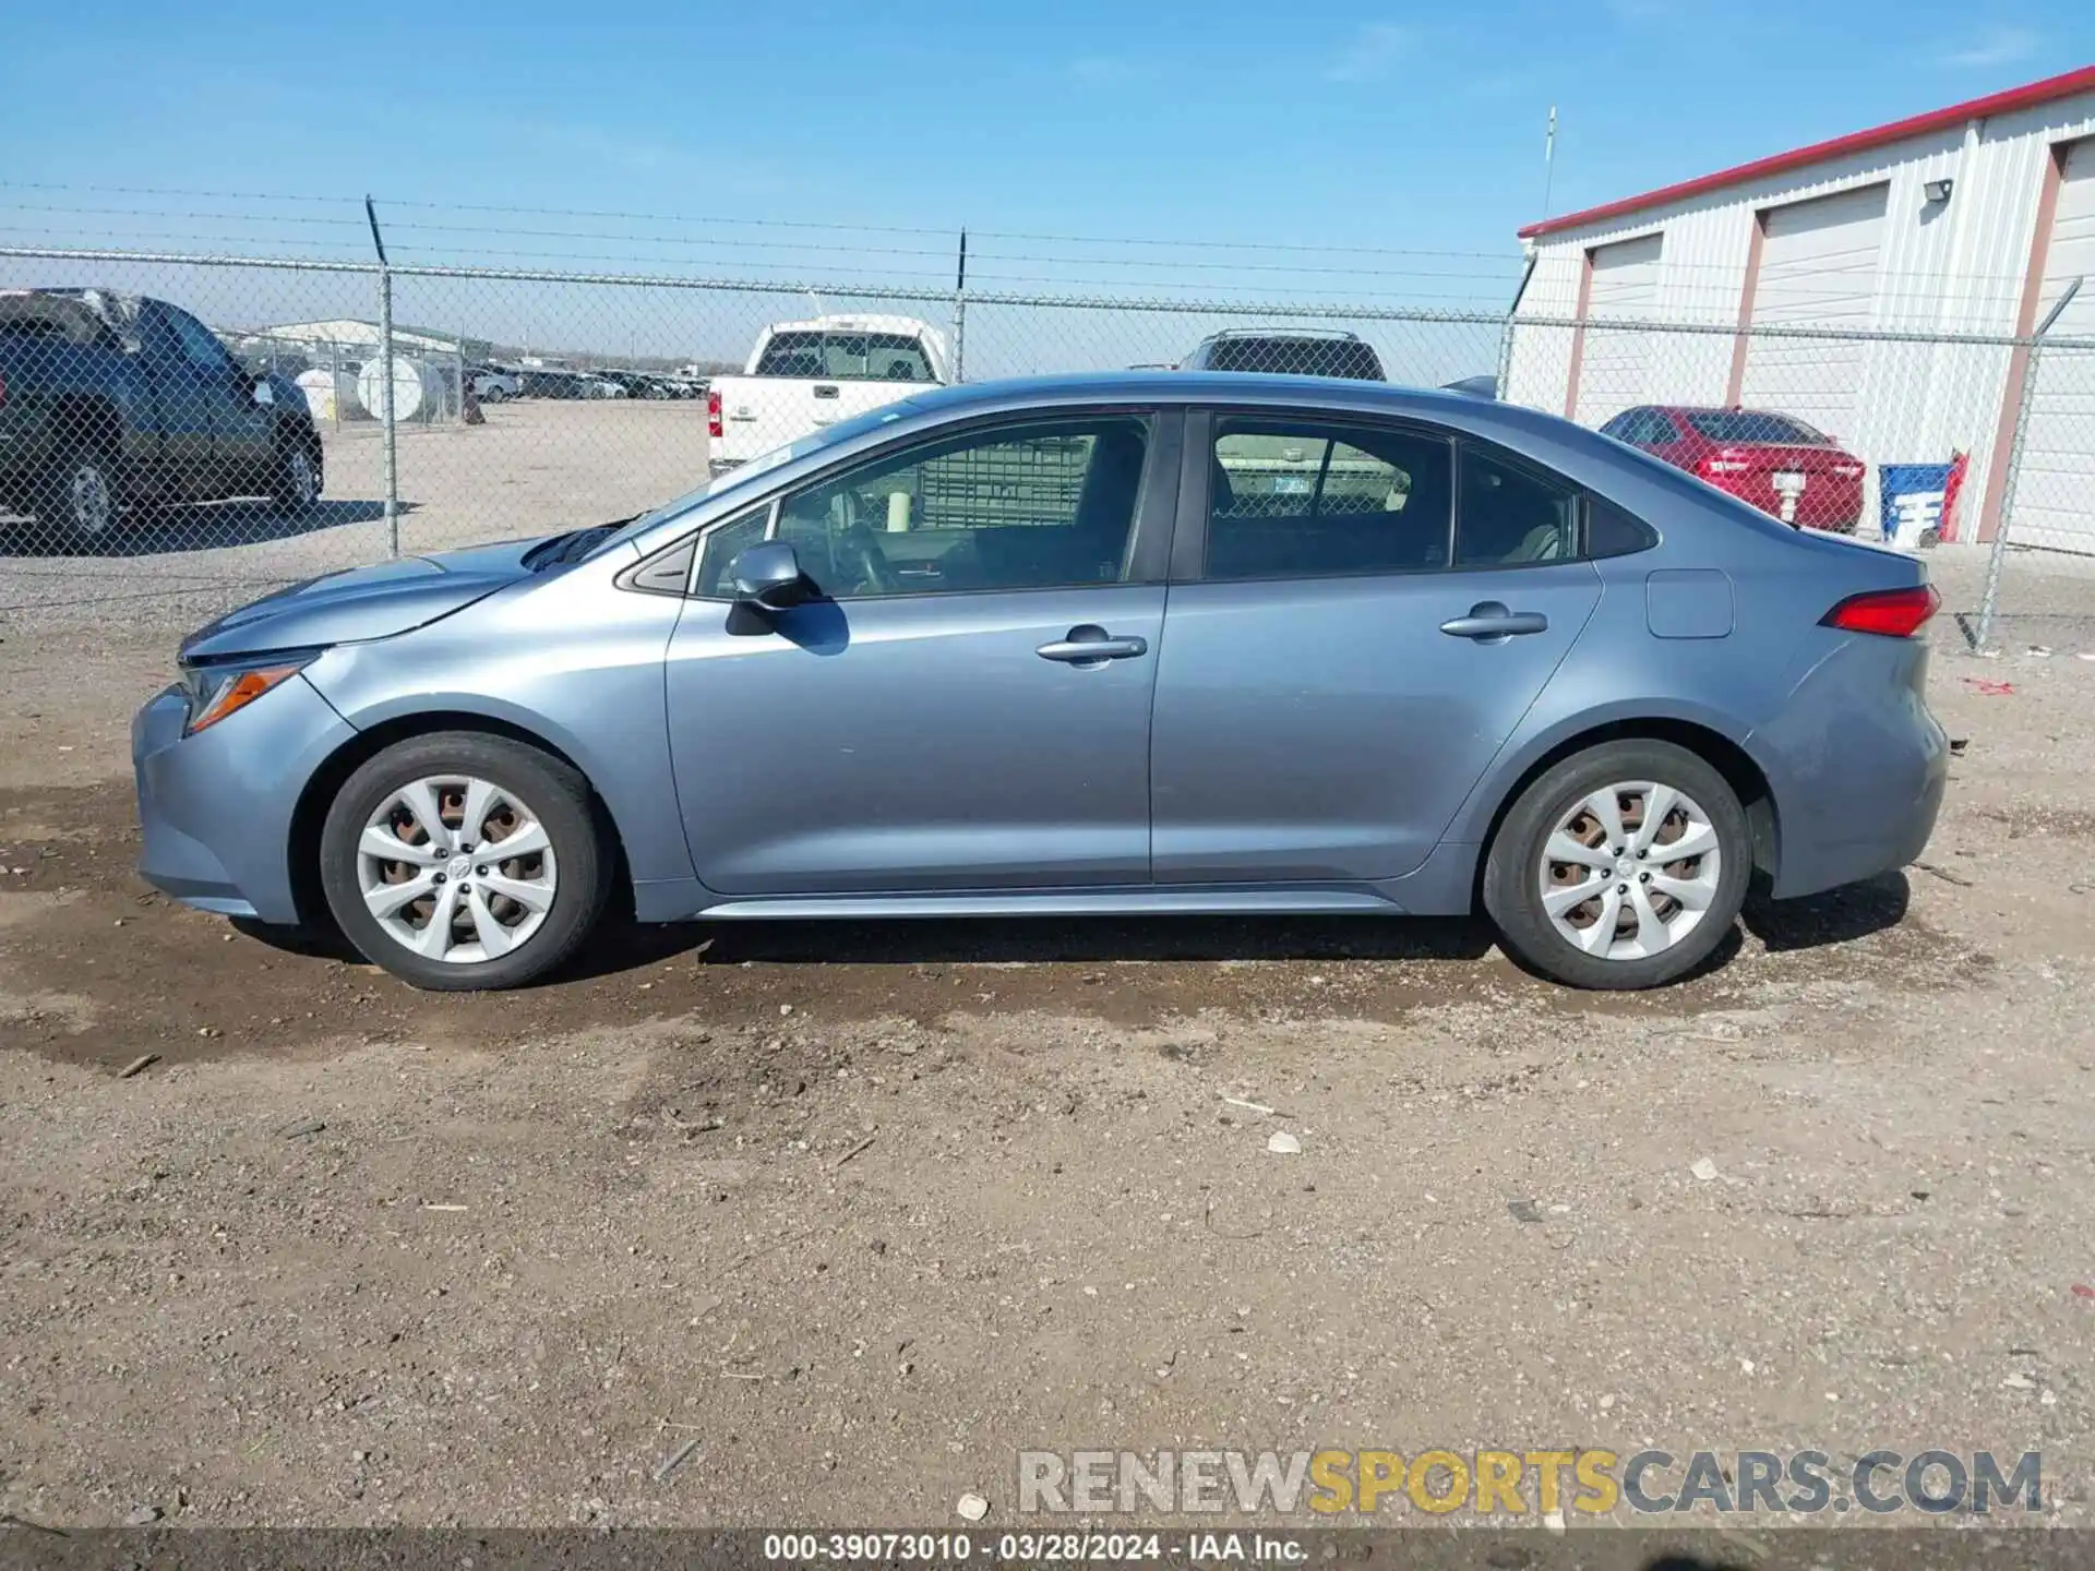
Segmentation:
{"type": "MultiPolygon", "coordinates": [[[[1027,589],[909,589],[897,595],[853,595],[846,599],[823,597],[825,605],[880,605],[886,601],[918,601],[918,599],[955,599],[955,597],[980,597],[980,595],[1050,595],[1050,593],[1083,593],[1096,589],[1135,589],[1142,584],[1163,584],[1169,580],[1169,557],[1173,545],[1173,524],[1177,517],[1177,496],[1184,486],[1184,463],[1182,452],[1186,448],[1186,411],[1173,404],[1066,404],[1050,408],[1027,408],[1027,411],[997,411],[987,415],[974,415],[964,421],[951,421],[949,425],[936,425],[928,432],[913,432],[899,436],[892,442],[882,442],[863,452],[855,452],[848,459],[817,469],[811,475],[777,486],[769,496],[760,501],[750,499],[748,507],[737,507],[727,517],[719,517],[704,524],[693,534],[698,536],[698,549],[691,553],[691,576],[685,580],[685,599],[702,601],[706,605],[733,605],[733,595],[700,595],[698,593],[698,570],[706,559],[706,543],[731,524],[740,524],[758,507],[767,509],[765,519],[765,540],[775,540],[779,530],[779,515],[786,511],[786,503],[817,486],[828,486],[830,482],[851,473],[853,469],[869,467],[882,463],[897,452],[905,452],[913,446],[930,446],[934,442],[947,442],[953,438],[968,436],[972,432],[987,429],[1012,429],[1024,425],[1068,425],[1073,421],[1087,419],[1115,419],[1133,417],[1148,421],[1150,440],[1142,455],[1142,480],[1135,492],[1135,517],[1129,526],[1129,551],[1127,551],[1127,576],[1112,584],[1039,584],[1027,589]]],[[[664,557],[677,551],[691,536],[677,536],[664,547],[649,551],[639,568],[629,568],[626,572],[641,572],[647,561],[664,557]]],[[[620,574],[624,578],[626,574],[620,574]]]]}

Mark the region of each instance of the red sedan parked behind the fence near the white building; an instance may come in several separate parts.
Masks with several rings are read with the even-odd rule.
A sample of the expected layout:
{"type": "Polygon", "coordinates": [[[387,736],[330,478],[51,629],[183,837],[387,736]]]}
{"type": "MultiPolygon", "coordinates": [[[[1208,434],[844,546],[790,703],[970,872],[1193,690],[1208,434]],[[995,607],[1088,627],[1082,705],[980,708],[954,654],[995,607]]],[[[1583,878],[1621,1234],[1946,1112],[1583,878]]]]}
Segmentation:
{"type": "Polygon", "coordinates": [[[1869,467],[1831,436],[1762,408],[1626,408],[1603,436],[1707,480],[1785,524],[1852,534],[1869,467]]]}

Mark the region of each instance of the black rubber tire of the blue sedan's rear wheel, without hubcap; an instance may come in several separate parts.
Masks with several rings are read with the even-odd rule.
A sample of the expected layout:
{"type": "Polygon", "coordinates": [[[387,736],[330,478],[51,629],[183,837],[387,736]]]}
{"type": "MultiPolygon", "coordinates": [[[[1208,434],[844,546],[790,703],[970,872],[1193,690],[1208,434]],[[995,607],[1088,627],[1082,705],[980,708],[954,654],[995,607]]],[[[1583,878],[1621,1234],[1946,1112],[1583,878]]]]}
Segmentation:
{"type": "MultiPolygon", "coordinates": [[[[1550,767],[1521,792],[1492,838],[1483,867],[1483,907],[1498,924],[1506,949],[1552,980],[1584,989],[1663,987],[1695,970],[1724,941],[1745,903],[1751,873],[1754,836],[1745,809],[1716,769],[1670,742],[1605,742],[1550,767]],[[1645,957],[1607,957],[1580,949],[1557,930],[1542,905],[1542,850],[1584,796],[1628,781],[1672,785],[1707,813],[1716,832],[1716,892],[1701,920],[1668,949],[1645,957]]],[[[1584,907],[1582,913],[1592,922],[1598,909],[1584,907]]],[[[1569,917],[1578,920],[1582,913],[1569,917]]],[[[1634,922],[1634,915],[1626,922],[1634,922]]]]}

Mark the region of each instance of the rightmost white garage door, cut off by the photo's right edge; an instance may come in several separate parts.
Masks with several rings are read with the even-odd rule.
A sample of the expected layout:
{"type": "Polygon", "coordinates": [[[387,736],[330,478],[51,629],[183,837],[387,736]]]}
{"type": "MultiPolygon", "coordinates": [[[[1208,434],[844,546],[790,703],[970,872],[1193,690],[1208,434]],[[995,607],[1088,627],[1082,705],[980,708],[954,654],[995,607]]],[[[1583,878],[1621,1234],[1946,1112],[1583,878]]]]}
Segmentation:
{"type": "MultiPolygon", "coordinates": [[[[2095,138],[2074,142],[2045,249],[2036,297],[2043,323],[2074,279],[2085,279],[2053,339],[2095,339],[2095,138]]],[[[2022,432],[2022,471],[2007,538],[2095,553],[2095,350],[2045,350],[2022,432]]]]}

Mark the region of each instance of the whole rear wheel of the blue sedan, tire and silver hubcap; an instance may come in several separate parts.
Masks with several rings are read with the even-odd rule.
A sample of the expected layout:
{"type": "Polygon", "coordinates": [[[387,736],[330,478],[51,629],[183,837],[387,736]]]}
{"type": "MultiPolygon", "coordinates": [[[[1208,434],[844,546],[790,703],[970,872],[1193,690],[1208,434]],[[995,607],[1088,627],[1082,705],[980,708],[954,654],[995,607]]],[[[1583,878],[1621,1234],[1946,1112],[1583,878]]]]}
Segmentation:
{"type": "Polygon", "coordinates": [[[1571,987],[1661,987],[1730,932],[1754,871],[1739,794],[1670,742],[1607,742],[1544,771],[1483,871],[1506,947],[1571,987]]]}

